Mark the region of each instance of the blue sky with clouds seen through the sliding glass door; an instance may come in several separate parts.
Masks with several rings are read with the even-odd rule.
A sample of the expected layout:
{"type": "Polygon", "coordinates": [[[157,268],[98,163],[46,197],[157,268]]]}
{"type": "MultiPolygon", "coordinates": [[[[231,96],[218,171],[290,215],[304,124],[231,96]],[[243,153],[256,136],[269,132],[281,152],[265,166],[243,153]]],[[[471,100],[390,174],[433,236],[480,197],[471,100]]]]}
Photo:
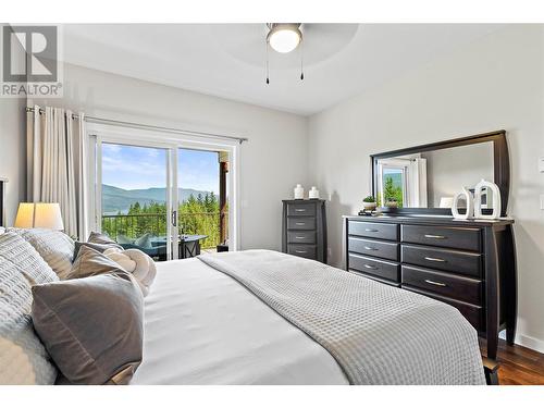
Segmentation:
{"type": "MultiPolygon", "coordinates": [[[[218,153],[180,149],[177,184],[219,194],[218,153]]],[[[102,144],[102,183],[123,189],[166,185],[166,150],[102,144]]]]}

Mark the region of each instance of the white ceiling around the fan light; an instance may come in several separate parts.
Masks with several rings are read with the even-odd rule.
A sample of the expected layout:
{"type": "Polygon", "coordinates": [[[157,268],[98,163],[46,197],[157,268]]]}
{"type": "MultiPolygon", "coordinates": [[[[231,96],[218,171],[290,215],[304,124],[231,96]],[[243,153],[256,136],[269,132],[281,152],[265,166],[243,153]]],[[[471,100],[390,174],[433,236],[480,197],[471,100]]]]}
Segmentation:
{"type": "Polygon", "coordinates": [[[69,24],[63,59],[100,71],[310,115],[489,35],[495,24],[302,24],[269,51],[265,24],[69,24]]]}

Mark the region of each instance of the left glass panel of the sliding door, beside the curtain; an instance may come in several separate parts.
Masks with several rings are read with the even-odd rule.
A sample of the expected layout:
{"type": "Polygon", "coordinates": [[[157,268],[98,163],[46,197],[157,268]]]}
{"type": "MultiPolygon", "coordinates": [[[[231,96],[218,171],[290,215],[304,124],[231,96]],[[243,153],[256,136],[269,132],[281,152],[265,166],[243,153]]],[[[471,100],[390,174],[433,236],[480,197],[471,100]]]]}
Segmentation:
{"type": "Polygon", "coordinates": [[[169,150],[101,144],[101,231],[125,249],[169,259],[169,150]]]}

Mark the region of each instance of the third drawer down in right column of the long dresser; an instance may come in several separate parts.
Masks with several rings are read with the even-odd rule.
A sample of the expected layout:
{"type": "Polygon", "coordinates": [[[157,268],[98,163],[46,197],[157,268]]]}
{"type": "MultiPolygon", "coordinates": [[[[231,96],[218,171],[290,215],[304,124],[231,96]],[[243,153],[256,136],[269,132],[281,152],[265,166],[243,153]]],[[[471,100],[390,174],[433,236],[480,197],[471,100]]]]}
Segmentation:
{"type": "Polygon", "coordinates": [[[401,282],[403,285],[418,287],[455,300],[467,301],[477,306],[482,302],[482,281],[475,279],[403,265],[401,282]]]}

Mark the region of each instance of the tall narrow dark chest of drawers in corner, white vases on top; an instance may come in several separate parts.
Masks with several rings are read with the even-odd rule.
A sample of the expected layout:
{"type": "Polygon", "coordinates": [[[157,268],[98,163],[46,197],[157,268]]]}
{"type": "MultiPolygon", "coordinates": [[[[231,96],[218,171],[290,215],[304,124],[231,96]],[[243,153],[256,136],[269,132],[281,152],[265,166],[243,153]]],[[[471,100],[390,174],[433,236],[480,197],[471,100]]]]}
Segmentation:
{"type": "Polygon", "coordinates": [[[326,263],[325,200],[283,200],[282,251],[326,263]]]}

